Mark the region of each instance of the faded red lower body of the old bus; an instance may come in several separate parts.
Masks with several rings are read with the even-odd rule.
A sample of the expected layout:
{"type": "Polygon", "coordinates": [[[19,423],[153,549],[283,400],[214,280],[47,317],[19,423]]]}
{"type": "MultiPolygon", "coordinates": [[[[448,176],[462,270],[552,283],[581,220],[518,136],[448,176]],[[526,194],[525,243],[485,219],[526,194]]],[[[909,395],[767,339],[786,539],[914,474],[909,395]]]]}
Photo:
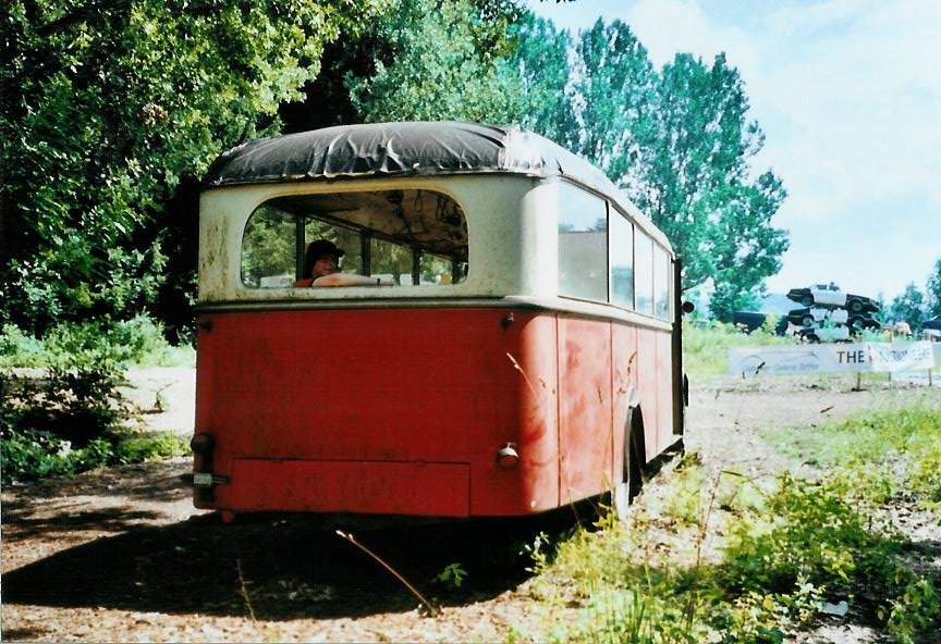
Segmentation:
{"type": "Polygon", "coordinates": [[[228,481],[194,500],[229,512],[530,515],[621,480],[635,387],[648,458],[671,431],[669,335],[607,320],[228,312],[200,318],[198,347],[196,431],[228,481]]]}

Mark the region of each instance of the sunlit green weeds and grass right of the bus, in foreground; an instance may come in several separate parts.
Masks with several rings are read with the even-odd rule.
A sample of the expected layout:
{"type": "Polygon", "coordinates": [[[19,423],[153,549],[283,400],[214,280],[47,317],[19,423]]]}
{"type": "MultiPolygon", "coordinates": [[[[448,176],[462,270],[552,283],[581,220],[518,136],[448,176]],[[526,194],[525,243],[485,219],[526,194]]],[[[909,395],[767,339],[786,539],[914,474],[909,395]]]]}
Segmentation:
{"type": "Polygon", "coordinates": [[[846,602],[896,642],[929,641],[938,580],[911,567],[891,517],[941,519],[941,401],[763,437],[816,468],[753,476],[687,456],[627,522],[537,541],[533,639],[778,643],[846,602]]]}

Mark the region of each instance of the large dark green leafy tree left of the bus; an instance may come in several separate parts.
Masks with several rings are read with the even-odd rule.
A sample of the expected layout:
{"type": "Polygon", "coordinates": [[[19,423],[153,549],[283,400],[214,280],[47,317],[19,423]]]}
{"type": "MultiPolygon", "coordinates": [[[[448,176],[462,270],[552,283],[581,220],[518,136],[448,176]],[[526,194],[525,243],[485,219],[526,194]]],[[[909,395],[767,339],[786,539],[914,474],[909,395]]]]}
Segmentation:
{"type": "Polygon", "coordinates": [[[316,77],[326,44],[380,4],[4,4],[0,321],[36,332],[152,305],[180,182],[276,132],[279,103],[316,77]]]}

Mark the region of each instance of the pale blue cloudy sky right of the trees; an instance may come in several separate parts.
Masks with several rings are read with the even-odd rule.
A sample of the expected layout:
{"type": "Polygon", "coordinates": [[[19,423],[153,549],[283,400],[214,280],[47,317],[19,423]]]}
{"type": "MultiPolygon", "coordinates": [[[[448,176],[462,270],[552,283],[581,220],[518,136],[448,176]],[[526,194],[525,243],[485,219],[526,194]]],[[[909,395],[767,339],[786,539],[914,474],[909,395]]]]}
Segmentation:
{"type": "Polygon", "coordinates": [[[769,292],[925,289],[941,259],[941,0],[527,1],[573,33],[624,22],[658,67],[726,53],[766,135],[750,165],[789,193],[769,292]]]}

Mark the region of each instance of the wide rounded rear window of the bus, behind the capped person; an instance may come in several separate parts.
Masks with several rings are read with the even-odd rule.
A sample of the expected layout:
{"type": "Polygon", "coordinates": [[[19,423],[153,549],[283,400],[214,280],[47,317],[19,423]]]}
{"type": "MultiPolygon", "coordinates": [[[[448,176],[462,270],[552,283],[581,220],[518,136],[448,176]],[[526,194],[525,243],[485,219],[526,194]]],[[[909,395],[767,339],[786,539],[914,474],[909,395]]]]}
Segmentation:
{"type": "Polygon", "coordinates": [[[241,274],[247,288],[286,288],[308,275],[315,239],[343,250],[340,271],[402,286],[459,284],[469,272],[467,220],[431,190],[316,193],[262,203],[245,226],[241,274]]]}

